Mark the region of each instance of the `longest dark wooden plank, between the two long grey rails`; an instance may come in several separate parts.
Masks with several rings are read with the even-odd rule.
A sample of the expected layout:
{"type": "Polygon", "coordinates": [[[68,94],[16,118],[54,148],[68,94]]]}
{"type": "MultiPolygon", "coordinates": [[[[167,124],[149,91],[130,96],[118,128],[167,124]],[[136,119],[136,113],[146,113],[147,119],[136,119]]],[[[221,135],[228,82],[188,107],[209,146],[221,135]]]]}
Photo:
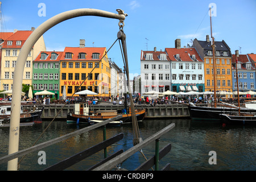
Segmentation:
{"type": "Polygon", "coordinates": [[[82,152],[79,152],[78,154],[71,156],[70,158],[67,158],[57,164],[54,164],[53,166],[50,166],[50,167],[44,169],[44,171],[64,170],[70,166],[73,166],[73,164],[76,164],[76,163],[80,162],[81,160],[87,158],[88,156],[93,155],[96,152],[103,150],[104,148],[112,145],[113,143],[118,142],[122,138],[123,138],[122,133],[115,135],[114,137],[109,138],[109,139],[97,144],[96,146],[90,147],[82,152]]]}

